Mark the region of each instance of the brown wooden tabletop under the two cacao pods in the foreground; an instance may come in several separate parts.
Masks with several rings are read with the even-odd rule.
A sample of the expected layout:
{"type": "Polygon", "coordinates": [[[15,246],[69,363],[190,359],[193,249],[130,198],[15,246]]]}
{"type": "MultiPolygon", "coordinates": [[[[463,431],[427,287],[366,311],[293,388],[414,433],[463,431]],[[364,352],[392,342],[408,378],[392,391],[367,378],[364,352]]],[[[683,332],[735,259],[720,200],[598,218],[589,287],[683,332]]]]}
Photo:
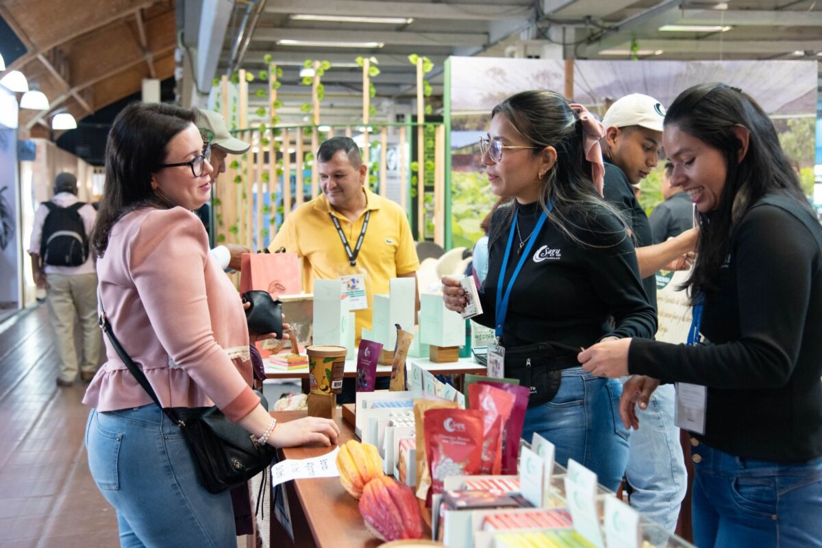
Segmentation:
{"type": "MultiPolygon", "coordinates": [[[[271,416],[280,422],[289,422],[306,414],[306,411],[274,411],[271,416]]],[[[357,439],[351,425],[343,420],[342,413],[337,413],[334,420],[339,426],[339,444],[357,439]]],[[[313,445],[279,449],[277,454],[279,459],[307,459],[332,450],[334,447],[313,445]]],[[[274,518],[272,505],[266,509],[271,512],[269,546],[272,548],[376,548],[382,544],[366,529],[358,500],[343,489],[339,477],[294,480],[283,485],[289,499],[294,542],[274,518]]],[[[431,538],[431,530],[424,531],[423,537],[431,538]]]]}

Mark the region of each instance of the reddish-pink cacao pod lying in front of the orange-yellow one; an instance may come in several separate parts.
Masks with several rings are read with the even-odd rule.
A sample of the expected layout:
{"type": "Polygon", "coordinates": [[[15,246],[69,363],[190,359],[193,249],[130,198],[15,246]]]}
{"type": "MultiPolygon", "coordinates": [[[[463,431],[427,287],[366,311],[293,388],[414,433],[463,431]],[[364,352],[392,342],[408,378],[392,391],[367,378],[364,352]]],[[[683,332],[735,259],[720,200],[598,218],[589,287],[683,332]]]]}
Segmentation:
{"type": "Polygon", "coordinates": [[[417,497],[393,477],[375,477],[368,482],[359,509],[368,530],[383,541],[423,537],[417,497]]]}

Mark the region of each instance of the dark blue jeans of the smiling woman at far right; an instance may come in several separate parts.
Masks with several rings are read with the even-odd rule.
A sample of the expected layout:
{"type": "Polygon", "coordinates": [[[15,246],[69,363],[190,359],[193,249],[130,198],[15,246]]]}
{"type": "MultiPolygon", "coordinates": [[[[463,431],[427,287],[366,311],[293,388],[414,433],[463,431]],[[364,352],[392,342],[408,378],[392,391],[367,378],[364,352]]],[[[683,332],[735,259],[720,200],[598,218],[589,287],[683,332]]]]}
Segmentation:
{"type": "Polygon", "coordinates": [[[822,546],[822,457],[780,464],[735,457],[702,443],[691,447],[691,454],[696,546],[822,546]]]}

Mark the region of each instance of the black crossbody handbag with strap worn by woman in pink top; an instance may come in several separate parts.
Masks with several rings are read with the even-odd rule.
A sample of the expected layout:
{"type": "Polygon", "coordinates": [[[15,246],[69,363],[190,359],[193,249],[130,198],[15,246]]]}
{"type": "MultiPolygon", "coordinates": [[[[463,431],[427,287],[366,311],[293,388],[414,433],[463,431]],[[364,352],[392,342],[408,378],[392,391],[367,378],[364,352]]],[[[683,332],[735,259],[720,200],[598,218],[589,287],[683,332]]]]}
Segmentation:
{"type": "MultiPolygon", "coordinates": [[[[122,363],[126,364],[143,390],[151,396],[157,407],[180,427],[188,448],[192,451],[200,482],[205,486],[206,491],[217,494],[241,486],[270,466],[275,458],[275,448],[268,444],[258,443],[256,436],[247,432],[239,424],[229,421],[216,406],[164,408],[159,403],[148,379],[145,378],[145,373],[136,366],[134,360],[114,336],[111,324],[105,315],[102,299],[99,299],[99,303],[100,327],[109,337],[122,363]]],[[[263,407],[268,409],[266,398],[259,392],[257,395],[260,396],[263,407]]]]}

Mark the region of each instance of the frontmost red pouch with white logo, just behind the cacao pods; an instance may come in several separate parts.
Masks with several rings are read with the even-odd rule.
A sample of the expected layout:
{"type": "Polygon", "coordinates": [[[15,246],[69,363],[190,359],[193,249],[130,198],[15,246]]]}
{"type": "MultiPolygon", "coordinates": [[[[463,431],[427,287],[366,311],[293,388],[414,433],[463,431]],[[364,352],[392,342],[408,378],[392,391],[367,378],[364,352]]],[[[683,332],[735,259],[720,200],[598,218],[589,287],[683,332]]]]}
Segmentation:
{"type": "Polygon", "coordinates": [[[426,500],[428,507],[432,495],[442,492],[446,477],[479,473],[483,414],[478,409],[430,409],[425,412],[425,454],[432,479],[426,500]]]}

